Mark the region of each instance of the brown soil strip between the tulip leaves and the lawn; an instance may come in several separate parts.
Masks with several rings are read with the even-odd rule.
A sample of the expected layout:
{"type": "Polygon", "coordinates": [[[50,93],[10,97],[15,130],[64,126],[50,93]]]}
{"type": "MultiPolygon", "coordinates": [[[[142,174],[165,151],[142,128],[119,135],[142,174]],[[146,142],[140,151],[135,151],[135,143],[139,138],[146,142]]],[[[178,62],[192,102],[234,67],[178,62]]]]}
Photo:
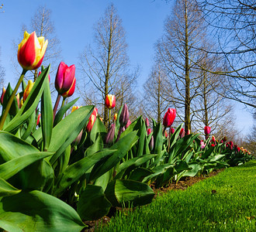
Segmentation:
{"type": "MultiPolygon", "coordinates": [[[[207,176],[205,175],[201,175],[201,176],[193,176],[193,177],[185,177],[181,180],[178,181],[178,183],[169,183],[167,187],[161,187],[159,189],[156,189],[154,186],[154,183],[152,183],[150,185],[151,189],[154,190],[154,198],[156,198],[157,196],[161,196],[164,193],[167,193],[170,190],[185,190],[187,189],[189,186],[192,186],[195,183],[198,183],[199,181],[201,181],[202,179],[206,179],[209,178],[211,176],[216,176],[218,173],[222,172],[223,169],[218,169],[215,170],[213,172],[210,172],[207,176]]],[[[213,190],[215,191],[215,190],[213,190]]],[[[95,227],[100,227],[101,224],[105,224],[108,223],[111,220],[111,217],[115,217],[116,212],[118,210],[123,210],[121,208],[114,208],[112,207],[109,210],[109,214],[105,217],[100,218],[99,220],[89,220],[89,221],[84,221],[84,223],[88,226],[86,227],[84,230],[82,230],[83,232],[92,232],[95,231],[95,227]]],[[[124,209],[126,210],[126,209],[124,209]]]]}

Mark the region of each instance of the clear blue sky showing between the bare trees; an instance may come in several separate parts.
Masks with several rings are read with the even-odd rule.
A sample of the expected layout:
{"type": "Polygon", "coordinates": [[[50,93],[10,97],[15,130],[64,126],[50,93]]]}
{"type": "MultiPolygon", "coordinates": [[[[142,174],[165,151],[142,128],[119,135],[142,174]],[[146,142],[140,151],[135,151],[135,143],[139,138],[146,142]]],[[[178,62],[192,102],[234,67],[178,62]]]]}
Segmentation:
{"type": "MultiPolygon", "coordinates": [[[[62,57],[67,65],[78,67],[78,56],[92,43],[93,25],[113,3],[123,20],[128,43],[128,56],[133,66],[140,65],[138,85],[147,79],[154,57],[154,43],[163,33],[164,19],[171,13],[172,2],[164,0],[2,0],[5,13],[0,14],[1,64],[5,67],[5,82],[14,85],[12,40],[18,39],[22,24],[29,25],[39,5],[52,11],[57,38],[61,40],[62,57]]],[[[20,38],[20,41],[22,38],[20,38]]],[[[61,60],[60,60],[61,61],[61,60]]],[[[243,105],[237,104],[237,128],[246,134],[253,119],[243,105]]]]}

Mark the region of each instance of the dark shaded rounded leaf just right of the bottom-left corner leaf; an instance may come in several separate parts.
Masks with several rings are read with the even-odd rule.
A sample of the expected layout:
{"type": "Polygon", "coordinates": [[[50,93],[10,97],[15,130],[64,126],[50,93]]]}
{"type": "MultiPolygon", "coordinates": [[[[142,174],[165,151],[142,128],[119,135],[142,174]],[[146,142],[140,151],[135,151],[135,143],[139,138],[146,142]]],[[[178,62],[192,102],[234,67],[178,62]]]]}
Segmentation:
{"type": "Polygon", "coordinates": [[[97,220],[108,214],[111,206],[101,186],[87,185],[79,196],[78,214],[82,220],[97,220]]]}

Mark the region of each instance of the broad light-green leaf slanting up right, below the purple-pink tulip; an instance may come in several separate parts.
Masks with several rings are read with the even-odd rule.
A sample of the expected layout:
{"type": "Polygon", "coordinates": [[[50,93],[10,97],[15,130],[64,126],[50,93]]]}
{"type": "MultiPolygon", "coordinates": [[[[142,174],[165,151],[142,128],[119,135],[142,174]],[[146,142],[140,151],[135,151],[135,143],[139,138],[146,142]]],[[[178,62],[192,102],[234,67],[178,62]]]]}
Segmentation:
{"type": "Polygon", "coordinates": [[[50,159],[53,164],[62,152],[65,151],[68,145],[77,138],[81,129],[85,127],[88,118],[92,114],[94,106],[80,107],[78,110],[67,115],[61,120],[52,131],[52,138],[48,152],[56,152],[50,159]]]}

